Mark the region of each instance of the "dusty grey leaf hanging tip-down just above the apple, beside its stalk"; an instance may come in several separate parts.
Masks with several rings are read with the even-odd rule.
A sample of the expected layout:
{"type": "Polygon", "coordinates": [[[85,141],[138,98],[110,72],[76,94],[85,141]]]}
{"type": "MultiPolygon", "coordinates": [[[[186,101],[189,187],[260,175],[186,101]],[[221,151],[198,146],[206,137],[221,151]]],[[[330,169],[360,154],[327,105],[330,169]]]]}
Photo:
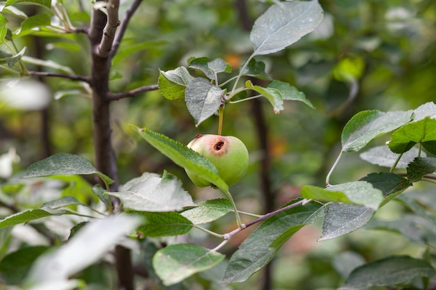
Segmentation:
{"type": "Polygon", "coordinates": [[[196,78],[190,81],[185,90],[185,101],[196,127],[218,111],[223,104],[224,90],[210,81],[196,78]]]}

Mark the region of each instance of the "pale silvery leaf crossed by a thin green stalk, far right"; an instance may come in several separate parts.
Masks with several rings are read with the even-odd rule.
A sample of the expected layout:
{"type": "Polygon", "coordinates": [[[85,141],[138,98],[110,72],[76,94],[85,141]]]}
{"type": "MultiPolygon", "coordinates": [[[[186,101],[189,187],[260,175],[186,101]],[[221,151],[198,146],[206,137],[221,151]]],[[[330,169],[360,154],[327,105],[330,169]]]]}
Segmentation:
{"type": "MultiPolygon", "coordinates": [[[[369,163],[376,164],[378,166],[391,168],[396,163],[396,168],[407,168],[407,165],[418,155],[419,149],[413,147],[411,150],[405,152],[403,156],[401,156],[400,161],[396,163],[400,154],[396,154],[389,150],[389,147],[386,145],[382,145],[372,147],[370,150],[361,153],[359,156],[364,161],[368,161],[369,163]]],[[[426,157],[427,155],[425,152],[421,152],[421,156],[426,157]]]]}

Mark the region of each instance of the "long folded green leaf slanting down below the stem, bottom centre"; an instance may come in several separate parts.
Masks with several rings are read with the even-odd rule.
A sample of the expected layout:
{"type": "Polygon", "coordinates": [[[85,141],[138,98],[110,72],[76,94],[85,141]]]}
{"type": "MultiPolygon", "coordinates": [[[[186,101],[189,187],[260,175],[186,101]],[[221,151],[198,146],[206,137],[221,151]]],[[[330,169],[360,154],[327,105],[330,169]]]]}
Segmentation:
{"type": "MultiPolygon", "coordinates": [[[[293,202],[297,201],[299,200],[293,202]]],[[[321,212],[322,204],[311,202],[287,209],[265,220],[233,253],[222,283],[247,280],[271,261],[285,239],[289,239],[297,229],[313,223],[321,212]]]]}

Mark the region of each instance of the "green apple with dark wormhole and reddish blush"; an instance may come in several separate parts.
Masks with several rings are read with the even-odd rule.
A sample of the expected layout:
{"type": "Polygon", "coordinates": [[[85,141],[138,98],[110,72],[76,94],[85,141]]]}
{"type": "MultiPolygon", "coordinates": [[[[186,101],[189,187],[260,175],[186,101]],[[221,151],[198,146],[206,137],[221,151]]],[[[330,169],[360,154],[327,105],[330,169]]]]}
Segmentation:
{"type": "MultiPolygon", "coordinates": [[[[187,147],[203,155],[218,170],[219,177],[228,186],[237,183],[247,172],[249,154],[242,141],[234,136],[198,134],[187,147]]],[[[206,187],[213,184],[186,170],[189,179],[197,186],[206,187]]]]}

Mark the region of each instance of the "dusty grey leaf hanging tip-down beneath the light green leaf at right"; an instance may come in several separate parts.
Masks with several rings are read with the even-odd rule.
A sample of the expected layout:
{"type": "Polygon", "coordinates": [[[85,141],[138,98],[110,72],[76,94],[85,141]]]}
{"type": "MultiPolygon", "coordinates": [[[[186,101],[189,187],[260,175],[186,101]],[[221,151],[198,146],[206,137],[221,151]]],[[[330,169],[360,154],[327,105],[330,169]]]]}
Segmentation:
{"type": "Polygon", "coordinates": [[[322,236],[318,241],[343,236],[368,223],[375,213],[374,209],[355,204],[332,203],[327,209],[322,223],[322,236]]]}

